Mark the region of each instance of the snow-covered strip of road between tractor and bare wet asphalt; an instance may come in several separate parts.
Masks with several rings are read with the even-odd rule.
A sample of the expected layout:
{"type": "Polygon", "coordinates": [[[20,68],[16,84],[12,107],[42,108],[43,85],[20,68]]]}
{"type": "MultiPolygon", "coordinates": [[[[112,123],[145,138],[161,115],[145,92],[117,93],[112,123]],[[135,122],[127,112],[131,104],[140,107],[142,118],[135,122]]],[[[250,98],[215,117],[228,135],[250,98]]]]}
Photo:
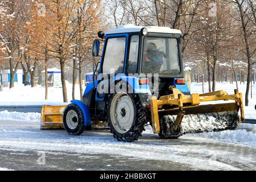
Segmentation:
{"type": "Polygon", "coordinates": [[[243,145],[246,144],[243,141],[237,141],[242,144],[233,144],[233,141],[228,143],[230,141],[225,140],[218,142],[219,139],[215,140],[213,133],[188,134],[180,139],[167,140],[160,139],[151,130],[148,126],[140,140],[125,143],[117,142],[108,130],[86,131],[80,136],[71,136],[64,130],[40,131],[39,121],[0,121],[0,150],[111,154],[165,160],[200,169],[239,170],[256,167],[256,150],[243,145]]]}

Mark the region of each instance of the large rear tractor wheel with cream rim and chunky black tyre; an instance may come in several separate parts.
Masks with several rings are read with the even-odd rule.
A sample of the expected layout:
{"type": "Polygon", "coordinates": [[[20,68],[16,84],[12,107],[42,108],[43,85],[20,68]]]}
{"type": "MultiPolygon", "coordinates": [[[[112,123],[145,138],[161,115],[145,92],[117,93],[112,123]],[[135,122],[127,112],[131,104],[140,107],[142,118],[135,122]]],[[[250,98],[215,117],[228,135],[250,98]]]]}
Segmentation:
{"type": "Polygon", "coordinates": [[[145,130],[145,112],[137,94],[117,92],[109,95],[108,125],[113,137],[133,142],[145,130]]]}

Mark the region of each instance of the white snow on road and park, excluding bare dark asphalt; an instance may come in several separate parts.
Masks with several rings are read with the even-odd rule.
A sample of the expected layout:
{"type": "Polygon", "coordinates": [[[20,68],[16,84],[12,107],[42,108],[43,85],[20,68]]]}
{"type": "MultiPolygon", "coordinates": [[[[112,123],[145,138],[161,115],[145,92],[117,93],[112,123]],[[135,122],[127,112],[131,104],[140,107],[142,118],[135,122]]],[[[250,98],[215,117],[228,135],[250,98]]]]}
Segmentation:
{"type": "MultiPolygon", "coordinates": [[[[255,88],[255,85],[254,85],[255,88]]],[[[233,94],[235,85],[217,83],[217,90],[233,94]]],[[[78,89],[77,89],[78,90],[78,89]]],[[[192,83],[193,93],[201,93],[201,85],[192,83]]],[[[245,93],[245,85],[239,90],[245,93]]],[[[76,92],[79,98],[79,92],[76,92]]],[[[62,102],[61,88],[50,88],[49,100],[44,99],[44,88],[7,89],[0,92],[0,105],[35,105],[62,102]],[[17,102],[18,101],[18,102],[17,102]]],[[[246,118],[255,118],[256,94],[246,118]]],[[[71,87],[68,85],[68,99],[71,87]]],[[[256,168],[256,126],[242,124],[238,130],[186,134],[176,140],[160,139],[151,127],[137,142],[117,142],[109,131],[86,131],[70,136],[64,130],[40,131],[39,113],[0,112],[0,150],[59,151],[79,154],[110,154],[137,159],[165,160],[187,164],[200,169],[239,170],[256,168]]],[[[0,163],[1,164],[1,163],[0,163]]],[[[5,166],[1,166],[5,168],[5,166]]]]}

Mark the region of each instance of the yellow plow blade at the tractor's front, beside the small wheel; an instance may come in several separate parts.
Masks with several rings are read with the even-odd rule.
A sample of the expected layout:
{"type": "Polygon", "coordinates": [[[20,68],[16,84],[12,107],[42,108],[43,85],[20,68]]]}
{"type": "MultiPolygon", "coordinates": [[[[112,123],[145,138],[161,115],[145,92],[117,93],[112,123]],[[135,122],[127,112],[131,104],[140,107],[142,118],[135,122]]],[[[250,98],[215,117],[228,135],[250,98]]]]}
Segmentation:
{"type": "Polygon", "coordinates": [[[62,115],[65,107],[42,106],[40,129],[64,129],[62,115]]]}

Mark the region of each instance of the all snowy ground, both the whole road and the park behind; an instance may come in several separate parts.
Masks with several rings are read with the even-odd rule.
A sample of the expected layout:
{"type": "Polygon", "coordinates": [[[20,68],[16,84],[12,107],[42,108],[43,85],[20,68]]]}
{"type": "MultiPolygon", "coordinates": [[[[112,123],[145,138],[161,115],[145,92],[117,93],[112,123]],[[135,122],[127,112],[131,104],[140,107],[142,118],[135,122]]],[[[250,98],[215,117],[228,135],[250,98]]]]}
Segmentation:
{"type": "MultiPolygon", "coordinates": [[[[217,84],[217,90],[230,94],[234,89],[235,85],[217,84]]],[[[193,83],[192,90],[201,93],[201,84],[193,83]]],[[[245,85],[239,91],[245,93],[245,85]]],[[[62,101],[62,90],[49,89],[51,102],[43,98],[44,88],[40,86],[5,88],[0,92],[0,105],[16,105],[17,101],[20,105],[57,104],[62,101]]],[[[250,106],[245,108],[246,118],[256,119],[255,98],[254,92],[250,106]]],[[[68,99],[71,100],[71,85],[68,99]]],[[[124,143],[117,142],[108,130],[70,136],[64,130],[41,131],[39,123],[39,113],[0,112],[0,170],[256,169],[256,125],[242,124],[234,131],[186,134],[175,140],[160,139],[148,126],[141,139],[124,143]],[[38,152],[42,151],[46,153],[44,165],[37,162],[38,152]]]]}

